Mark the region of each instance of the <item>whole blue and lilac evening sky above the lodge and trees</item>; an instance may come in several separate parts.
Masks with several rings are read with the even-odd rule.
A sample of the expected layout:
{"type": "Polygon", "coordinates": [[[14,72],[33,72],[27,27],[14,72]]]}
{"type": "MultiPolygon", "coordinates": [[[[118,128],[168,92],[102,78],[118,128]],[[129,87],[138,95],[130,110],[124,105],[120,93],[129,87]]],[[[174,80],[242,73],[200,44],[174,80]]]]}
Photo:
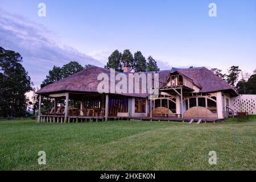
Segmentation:
{"type": "Polygon", "coordinates": [[[19,52],[39,86],[53,65],[104,67],[115,50],[141,51],[160,69],[256,68],[255,0],[0,0],[0,46],[19,52]],[[45,3],[46,17],[38,16],[45,3]],[[217,6],[210,17],[209,4],[217,6]]]}

